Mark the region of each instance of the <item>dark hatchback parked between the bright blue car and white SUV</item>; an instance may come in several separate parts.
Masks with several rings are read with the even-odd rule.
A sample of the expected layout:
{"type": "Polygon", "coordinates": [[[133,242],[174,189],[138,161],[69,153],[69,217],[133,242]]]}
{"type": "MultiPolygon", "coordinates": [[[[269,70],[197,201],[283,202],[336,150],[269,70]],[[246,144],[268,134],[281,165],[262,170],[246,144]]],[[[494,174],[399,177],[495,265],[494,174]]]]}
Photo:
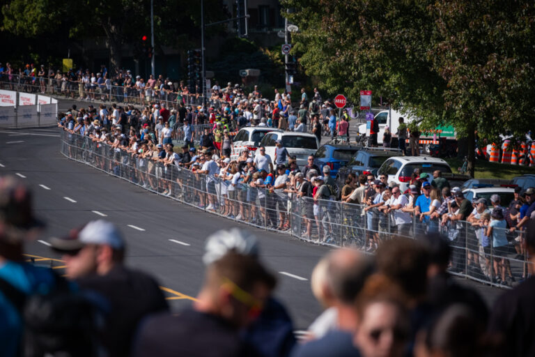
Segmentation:
{"type": "Polygon", "coordinates": [[[357,176],[359,174],[373,174],[373,176],[377,176],[377,171],[382,163],[392,156],[398,156],[399,153],[400,151],[397,149],[362,148],[357,151],[346,167],[342,167],[338,170],[336,182],[340,187],[345,185],[350,172],[357,176]]]}

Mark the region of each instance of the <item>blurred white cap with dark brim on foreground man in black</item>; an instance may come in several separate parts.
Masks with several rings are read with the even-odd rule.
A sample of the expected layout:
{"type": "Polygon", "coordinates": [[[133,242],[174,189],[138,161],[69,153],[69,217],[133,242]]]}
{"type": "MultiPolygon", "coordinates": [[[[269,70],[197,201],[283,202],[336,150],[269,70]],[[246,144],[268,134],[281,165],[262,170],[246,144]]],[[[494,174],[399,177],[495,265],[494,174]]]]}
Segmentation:
{"type": "Polygon", "coordinates": [[[70,231],[69,236],[51,238],[50,244],[54,250],[63,252],[80,250],[87,244],[109,245],[111,248],[118,250],[125,247],[121,231],[113,223],[106,220],[88,222],[79,231],[70,231]]]}

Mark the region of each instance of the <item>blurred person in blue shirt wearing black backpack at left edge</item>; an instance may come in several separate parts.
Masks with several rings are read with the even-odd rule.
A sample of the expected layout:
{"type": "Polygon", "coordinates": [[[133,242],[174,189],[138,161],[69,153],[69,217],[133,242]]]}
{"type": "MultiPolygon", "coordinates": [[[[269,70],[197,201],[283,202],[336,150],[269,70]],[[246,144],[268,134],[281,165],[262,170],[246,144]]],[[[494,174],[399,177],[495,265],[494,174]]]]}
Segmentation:
{"type": "Polygon", "coordinates": [[[98,356],[95,305],[22,254],[43,226],[28,188],[0,177],[0,356],[98,356]]]}

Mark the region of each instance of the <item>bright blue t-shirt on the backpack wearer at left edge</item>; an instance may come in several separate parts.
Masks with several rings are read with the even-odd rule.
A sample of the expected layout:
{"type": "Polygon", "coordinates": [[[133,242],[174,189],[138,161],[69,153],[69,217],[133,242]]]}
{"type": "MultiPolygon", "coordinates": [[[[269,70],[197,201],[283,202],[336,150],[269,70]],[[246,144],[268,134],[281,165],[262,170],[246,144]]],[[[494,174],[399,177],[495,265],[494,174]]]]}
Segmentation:
{"type": "MultiPolygon", "coordinates": [[[[8,261],[0,266],[0,277],[13,287],[30,294],[48,294],[55,284],[52,270],[26,263],[8,261]]],[[[22,319],[16,307],[0,292],[0,356],[17,356],[22,319]]]]}

